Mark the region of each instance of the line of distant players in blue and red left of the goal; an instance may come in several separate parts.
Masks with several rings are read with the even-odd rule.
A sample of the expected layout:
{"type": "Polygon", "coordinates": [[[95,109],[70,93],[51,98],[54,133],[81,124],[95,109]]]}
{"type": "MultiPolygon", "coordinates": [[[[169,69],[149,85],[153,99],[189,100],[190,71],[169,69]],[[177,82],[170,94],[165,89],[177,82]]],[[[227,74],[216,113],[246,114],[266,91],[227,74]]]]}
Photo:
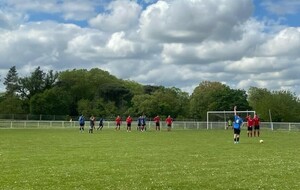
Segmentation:
{"type": "MultiPolygon", "coordinates": [[[[90,121],[90,126],[89,126],[89,133],[93,133],[93,131],[96,129],[95,127],[95,124],[96,124],[96,118],[92,115],[89,119],[90,121]]],[[[131,125],[132,125],[132,122],[133,122],[133,119],[132,117],[129,115],[127,118],[126,118],[126,130],[127,132],[131,132],[131,125]]],[[[160,117],[157,115],[153,118],[153,121],[155,123],[155,130],[156,131],[160,131],[160,117]]],[[[85,126],[85,118],[83,115],[81,115],[78,119],[78,122],[79,122],[79,131],[80,132],[83,132],[84,131],[84,126],[85,126]]],[[[121,127],[121,124],[122,124],[122,118],[118,115],[115,119],[115,122],[116,122],[116,127],[115,127],[115,130],[116,131],[119,131],[120,130],[120,127],[121,127]]],[[[173,123],[173,118],[169,115],[166,120],[166,125],[167,125],[167,131],[171,131],[171,127],[172,127],[172,123],[173,123]]],[[[104,126],[104,119],[103,118],[100,118],[99,119],[99,126],[97,127],[97,130],[102,130],[103,129],[103,126],[104,126]]],[[[138,119],[137,119],[137,130],[138,131],[141,131],[141,132],[144,132],[147,130],[146,128],[146,116],[140,116],[138,119]]]]}

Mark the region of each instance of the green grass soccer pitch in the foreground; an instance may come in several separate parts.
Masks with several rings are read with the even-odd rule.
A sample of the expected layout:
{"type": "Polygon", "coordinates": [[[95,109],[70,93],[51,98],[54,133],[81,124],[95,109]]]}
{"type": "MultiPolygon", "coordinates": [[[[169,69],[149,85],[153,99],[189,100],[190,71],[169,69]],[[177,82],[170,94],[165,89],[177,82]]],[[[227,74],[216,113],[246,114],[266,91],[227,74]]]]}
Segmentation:
{"type": "Polygon", "coordinates": [[[300,189],[300,133],[0,130],[0,189],[300,189]],[[259,143],[264,139],[264,143],[259,143]]]}

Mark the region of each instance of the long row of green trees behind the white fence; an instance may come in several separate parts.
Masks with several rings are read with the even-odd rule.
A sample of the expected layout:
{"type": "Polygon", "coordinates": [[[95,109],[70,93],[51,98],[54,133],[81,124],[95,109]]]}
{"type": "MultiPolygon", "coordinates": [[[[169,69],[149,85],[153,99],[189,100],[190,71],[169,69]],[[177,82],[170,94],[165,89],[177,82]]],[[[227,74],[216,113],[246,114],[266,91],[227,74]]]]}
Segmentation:
{"type": "Polygon", "coordinates": [[[250,87],[231,89],[220,82],[202,81],[189,95],[176,87],[142,85],[122,80],[98,68],[44,72],[37,67],[20,77],[12,66],[0,94],[0,114],[44,114],[115,117],[171,115],[206,120],[207,111],[255,110],[262,121],[300,121],[300,101],[290,91],[250,87]]]}

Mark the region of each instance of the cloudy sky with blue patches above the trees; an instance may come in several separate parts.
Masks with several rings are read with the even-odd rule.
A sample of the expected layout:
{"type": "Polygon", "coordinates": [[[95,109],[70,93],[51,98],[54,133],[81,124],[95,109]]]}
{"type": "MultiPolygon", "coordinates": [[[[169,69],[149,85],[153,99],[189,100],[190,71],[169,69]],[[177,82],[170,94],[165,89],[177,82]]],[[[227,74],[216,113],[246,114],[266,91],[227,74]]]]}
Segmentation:
{"type": "Polygon", "coordinates": [[[39,66],[300,96],[300,0],[0,0],[0,42],[2,92],[39,66]]]}

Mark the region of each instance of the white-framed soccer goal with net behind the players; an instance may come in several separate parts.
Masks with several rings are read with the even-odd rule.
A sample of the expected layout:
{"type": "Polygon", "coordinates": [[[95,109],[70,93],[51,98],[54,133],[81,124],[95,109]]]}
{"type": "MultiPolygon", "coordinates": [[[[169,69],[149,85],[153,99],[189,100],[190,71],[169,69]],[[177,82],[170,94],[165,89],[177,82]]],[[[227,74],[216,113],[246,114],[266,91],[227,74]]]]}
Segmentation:
{"type": "MultiPolygon", "coordinates": [[[[236,113],[245,121],[248,115],[252,117],[255,111],[236,111],[236,113]]],[[[234,120],[234,111],[208,111],[207,112],[207,129],[227,129],[230,121],[234,120]]]]}

